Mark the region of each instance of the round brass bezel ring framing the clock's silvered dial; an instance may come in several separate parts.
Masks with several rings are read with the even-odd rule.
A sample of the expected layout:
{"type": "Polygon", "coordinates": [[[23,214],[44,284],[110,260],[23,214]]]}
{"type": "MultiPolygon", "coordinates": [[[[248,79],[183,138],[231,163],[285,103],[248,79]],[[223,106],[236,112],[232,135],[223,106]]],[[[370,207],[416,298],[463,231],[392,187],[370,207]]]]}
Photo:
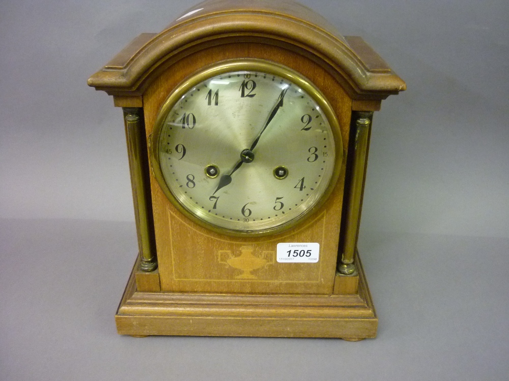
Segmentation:
{"type": "Polygon", "coordinates": [[[235,236],[235,237],[260,237],[266,235],[274,235],[278,233],[282,233],[287,231],[296,225],[303,223],[305,219],[310,217],[317,211],[323,204],[327,201],[332,190],[334,189],[337,179],[341,172],[341,165],[343,163],[343,140],[341,137],[341,129],[337,117],[330,106],[329,102],[322,94],[322,92],[308,79],[306,79],[303,75],[296,72],[293,69],[290,69],[286,66],[280,65],[279,63],[262,60],[262,59],[250,59],[250,58],[241,58],[241,59],[229,59],[214,63],[204,69],[197,71],[190,75],[187,79],[181,82],[177,87],[168,95],[163,105],[161,106],[156,121],[154,123],[154,130],[152,133],[152,139],[150,144],[150,161],[152,166],[152,172],[159,183],[164,195],[168,198],[168,200],[186,217],[192,220],[194,223],[209,229],[215,233],[235,236]],[[285,78],[289,81],[300,86],[304,91],[306,91],[310,97],[312,97],[317,104],[320,106],[321,110],[325,114],[332,131],[332,136],[334,140],[335,146],[335,160],[334,160],[334,169],[332,172],[332,176],[329,180],[329,183],[326,185],[324,193],[320,197],[313,207],[309,208],[304,213],[296,216],[292,220],[288,221],[288,223],[278,225],[273,228],[268,228],[262,231],[238,231],[225,229],[222,227],[218,227],[209,223],[208,221],[197,217],[187,208],[185,208],[177,198],[172,194],[169,189],[166,181],[164,180],[164,176],[162,174],[160,164],[159,164],[159,135],[164,124],[164,120],[172,110],[173,106],[178,102],[178,100],[184,96],[184,94],[189,91],[193,86],[207,80],[208,78],[214,77],[216,75],[220,75],[223,73],[234,72],[234,71],[259,71],[267,74],[272,74],[279,76],[281,78],[285,78]]]}

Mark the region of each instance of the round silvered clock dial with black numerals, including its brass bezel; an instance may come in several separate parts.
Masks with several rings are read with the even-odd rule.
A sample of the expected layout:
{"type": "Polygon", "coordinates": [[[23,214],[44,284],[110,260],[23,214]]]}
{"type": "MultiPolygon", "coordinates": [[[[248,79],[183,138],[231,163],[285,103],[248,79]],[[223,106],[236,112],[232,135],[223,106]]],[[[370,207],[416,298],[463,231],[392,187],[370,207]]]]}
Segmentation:
{"type": "Polygon", "coordinates": [[[260,60],[220,63],[180,85],[159,112],[151,148],[169,200],[234,235],[295,226],[325,201],[342,160],[321,93],[260,60]]]}

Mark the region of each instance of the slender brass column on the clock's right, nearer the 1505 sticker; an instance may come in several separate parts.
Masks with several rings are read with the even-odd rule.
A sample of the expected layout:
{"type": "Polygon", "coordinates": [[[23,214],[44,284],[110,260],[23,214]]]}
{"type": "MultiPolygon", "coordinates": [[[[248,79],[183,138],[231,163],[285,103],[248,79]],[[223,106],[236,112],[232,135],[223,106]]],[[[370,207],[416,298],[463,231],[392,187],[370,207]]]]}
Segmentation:
{"type": "Polygon", "coordinates": [[[341,263],[337,270],[344,275],[354,275],[353,263],[360,225],[360,208],[367,160],[367,144],[370,137],[373,112],[357,112],[355,115],[355,142],[352,158],[352,181],[348,194],[346,232],[341,263]]]}

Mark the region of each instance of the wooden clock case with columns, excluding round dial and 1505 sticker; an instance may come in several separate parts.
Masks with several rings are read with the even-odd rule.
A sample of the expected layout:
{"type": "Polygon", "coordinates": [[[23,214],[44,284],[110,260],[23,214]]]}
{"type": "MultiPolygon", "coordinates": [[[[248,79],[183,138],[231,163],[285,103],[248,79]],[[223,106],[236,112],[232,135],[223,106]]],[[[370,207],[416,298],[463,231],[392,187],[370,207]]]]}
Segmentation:
{"type": "Polygon", "coordinates": [[[341,337],[376,335],[356,252],[373,111],[405,83],[359,37],[342,37],[297,3],[207,1],[159,34],[142,34],[89,85],[124,110],[139,256],[120,303],[120,334],[341,337]],[[223,235],[165,197],[149,146],[159,109],[190,75],[256,58],[308,78],[340,124],[342,166],[327,201],[290,230],[223,235]],[[318,242],[317,264],[280,264],[278,242],[318,242]]]}

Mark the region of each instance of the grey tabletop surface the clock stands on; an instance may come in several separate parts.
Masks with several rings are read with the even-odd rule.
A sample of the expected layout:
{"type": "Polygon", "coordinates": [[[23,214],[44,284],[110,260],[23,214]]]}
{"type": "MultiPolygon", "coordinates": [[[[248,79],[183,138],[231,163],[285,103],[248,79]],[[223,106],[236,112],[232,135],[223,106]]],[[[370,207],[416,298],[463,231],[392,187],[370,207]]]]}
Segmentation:
{"type": "Polygon", "coordinates": [[[376,339],[116,333],[133,223],[0,220],[0,379],[507,380],[506,238],[363,232],[376,339]],[[479,261],[479,253],[484,261],[479,261]]]}

